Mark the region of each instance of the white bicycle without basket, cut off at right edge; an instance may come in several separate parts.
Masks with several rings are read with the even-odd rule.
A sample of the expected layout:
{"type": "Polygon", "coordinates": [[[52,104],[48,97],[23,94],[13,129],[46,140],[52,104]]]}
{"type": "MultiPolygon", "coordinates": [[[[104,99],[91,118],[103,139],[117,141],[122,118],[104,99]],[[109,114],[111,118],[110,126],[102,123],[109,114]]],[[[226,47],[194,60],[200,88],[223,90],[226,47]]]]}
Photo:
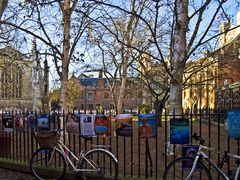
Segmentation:
{"type": "Polygon", "coordinates": [[[191,157],[180,157],[173,160],[165,169],[163,173],[163,180],[212,180],[212,175],[210,172],[214,170],[218,173],[218,175],[225,180],[238,180],[240,179],[240,156],[228,153],[227,151],[219,153],[223,153],[223,157],[218,164],[214,164],[211,159],[204,153],[204,150],[213,151],[213,148],[204,146],[204,139],[194,133],[192,136],[196,141],[200,141],[200,145],[198,147],[197,152],[189,151],[191,157]],[[228,158],[234,158],[237,164],[236,172],[230,174],[233,177],[228,177],[223,171],[222,167],[225,162],[228,161],[228,158]]]}

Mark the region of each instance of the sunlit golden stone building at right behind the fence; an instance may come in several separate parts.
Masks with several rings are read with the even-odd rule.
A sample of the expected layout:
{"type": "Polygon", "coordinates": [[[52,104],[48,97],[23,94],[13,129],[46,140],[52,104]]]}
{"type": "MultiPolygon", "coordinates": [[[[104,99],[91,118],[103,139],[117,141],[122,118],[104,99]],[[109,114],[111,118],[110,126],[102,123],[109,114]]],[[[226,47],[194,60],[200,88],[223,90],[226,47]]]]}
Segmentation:
{"type": "Polygon", "coordinates": [[[240,82],[240,12],[236,26],[223,23],[220,26],[218,48],[188,64],[187,68],[199,68],[191,78],[185,74],[183,109],[218,108],[223,102],[221,90],[240,82]]]}

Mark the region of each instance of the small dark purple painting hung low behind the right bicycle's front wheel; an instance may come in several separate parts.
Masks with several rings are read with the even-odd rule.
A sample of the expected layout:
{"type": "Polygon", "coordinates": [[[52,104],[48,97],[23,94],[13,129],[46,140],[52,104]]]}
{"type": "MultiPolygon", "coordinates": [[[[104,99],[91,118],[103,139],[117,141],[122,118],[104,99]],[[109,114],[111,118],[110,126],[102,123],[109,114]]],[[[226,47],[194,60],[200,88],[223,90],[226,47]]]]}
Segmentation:
{"type": "MultiPolygon", "coordinates": [[[[185,145],[182,148],[182,156],[194,159],[195,156],[197,155],[198,148],[199,146],[196,146],[196,145],[185,145]]],[[[187,170],[187,171],[191,170],[192,165],[193,165],[193,161],[189,161],[189,160],[183,161],[183,170],[187,170]]]]}

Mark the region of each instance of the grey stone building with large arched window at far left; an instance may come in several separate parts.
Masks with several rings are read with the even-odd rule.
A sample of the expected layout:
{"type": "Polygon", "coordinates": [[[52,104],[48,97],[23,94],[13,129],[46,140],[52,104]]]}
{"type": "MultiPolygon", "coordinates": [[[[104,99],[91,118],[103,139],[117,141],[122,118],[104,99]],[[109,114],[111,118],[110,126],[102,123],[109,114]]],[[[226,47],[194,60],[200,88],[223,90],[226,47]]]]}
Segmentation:
{"type": "Polygon", "coordinates": [[[12,47],[0,49],[0,109],[40,110],[40,71],[33,57],[12,47]]]}

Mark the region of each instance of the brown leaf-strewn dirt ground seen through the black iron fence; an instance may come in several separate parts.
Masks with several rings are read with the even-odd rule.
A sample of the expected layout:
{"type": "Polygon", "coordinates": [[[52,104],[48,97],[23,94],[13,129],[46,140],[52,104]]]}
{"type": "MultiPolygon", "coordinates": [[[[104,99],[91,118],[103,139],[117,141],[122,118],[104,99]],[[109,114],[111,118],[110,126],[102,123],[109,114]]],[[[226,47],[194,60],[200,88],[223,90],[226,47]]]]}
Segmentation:
{"type": "MultiPolygon", "coordinates": [[[[237,153],[239,150],[238,142],[227,138],[226,130],[223,126],[209,122],[199,121],[193,122],[191,132],[197,132],[205,139],[205,145],[213,147],[216,150],[228,150],[231,153],[237,153]]],[[[182,155],[182,145],[174,146],[174,155],[169,155],[167,150],[167,142],[169,141],[169,122],[162,122],[162,127],[158,127],[157,138],[139,139],[137,122],[133,122],[133,137],[119,137],[114,135],[114,123],[112,122],[112,134],[109,137],[100,136],[92,140],[85,141],[82,137],[66,133],[62,138],[66,145],[70,147],[76,154],[81,150],[87,151],[92,144],[105,144],[111,146],[111,152],[119,161],[119,174],[121,176],[155,176],[161,179],[163,171],[167,164],[174,158],[182,155]],[[147,147],[149,147],[150,156],[147,155],[147,147]],[[151,157],[151,158],[149,158],[151,157]]],[[[29,134],[30,135],[30,134],[29,134]]],[[[11,137],[11,151],[9,158],[21,161],[29,161],[38,146],[35,140],[22,132],[16,132],[14,138],[11,137]],[[19,141],[19,139],[22,139],[19,141]],[[13,143],[14,142],[14,143],[13,143]]],[[[198,142],[192,141],[193,144],[198,142]]],[[[217,151],[207,152],[208,155],[217,162],[220,159],[220,153],[217,151]]],[[[230,160],[230,169],[235,167],[234,160],[230,160]]],[[[225,166],[227,172],[228,167],[225,166]]],[[[0,178],[1,179],[1,178],[0,178]]]]}

